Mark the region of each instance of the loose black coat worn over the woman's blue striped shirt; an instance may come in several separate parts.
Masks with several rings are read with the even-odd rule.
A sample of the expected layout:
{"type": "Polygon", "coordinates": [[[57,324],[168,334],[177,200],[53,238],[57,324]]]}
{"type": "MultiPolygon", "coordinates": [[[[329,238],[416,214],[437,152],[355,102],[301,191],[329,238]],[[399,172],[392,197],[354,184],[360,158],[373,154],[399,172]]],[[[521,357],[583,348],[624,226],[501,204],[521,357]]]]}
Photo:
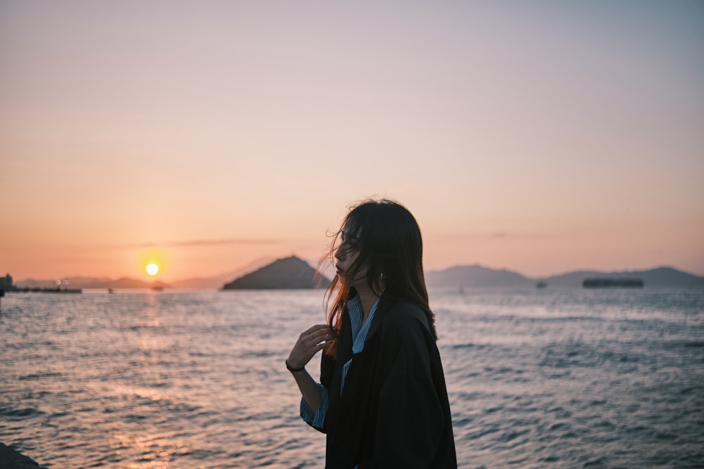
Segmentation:
{"type": "Polygon", "coordinates": [[[338,358],[323,355],[329,391],[326,468],[456,468],[450,404],[440,354],[425,313],[382,295],[364,350],[348,370],[352,328],[344,314],[338,358]]]}

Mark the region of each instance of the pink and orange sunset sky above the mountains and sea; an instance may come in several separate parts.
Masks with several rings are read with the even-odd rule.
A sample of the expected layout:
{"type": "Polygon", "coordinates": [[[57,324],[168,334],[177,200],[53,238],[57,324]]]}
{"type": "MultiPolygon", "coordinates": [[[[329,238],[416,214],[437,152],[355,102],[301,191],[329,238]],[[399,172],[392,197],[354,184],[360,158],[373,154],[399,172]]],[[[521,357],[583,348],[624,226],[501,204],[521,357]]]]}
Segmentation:
{"type": "Polygon", "coordinates": [[[704,275],[704,2],[0,1],[0,275],[314,260],[370,195],[428,270],[704,275]]]}

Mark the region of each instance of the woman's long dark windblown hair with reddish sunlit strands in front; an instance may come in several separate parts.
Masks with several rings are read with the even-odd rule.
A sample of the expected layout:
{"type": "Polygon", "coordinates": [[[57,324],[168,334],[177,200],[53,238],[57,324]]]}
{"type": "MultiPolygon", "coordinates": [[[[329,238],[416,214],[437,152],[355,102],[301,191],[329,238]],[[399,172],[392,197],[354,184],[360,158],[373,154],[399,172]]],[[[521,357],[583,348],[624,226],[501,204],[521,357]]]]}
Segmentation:
{"type": "MultiPolygon", "coordinates": [[[[430,310],[423,274],[423,241],[413,214],[394,200],[365,200],[351,207],[339,231],[332,235],[327,259],[334,260],[341,242],[349,243],[359,252],[346,275],[356,278],[363,272],[375,293],[381,294],[384,285],[385,293],[420,307],[437,340],[435,315],[430,310]]],[[[354,288],[341,283],[337,276],[327,288],[328,322],[336,333],[347,302],[355,293],[354,288]]],[[[337,357],[337,337],[325,353],[337,357]]]]}

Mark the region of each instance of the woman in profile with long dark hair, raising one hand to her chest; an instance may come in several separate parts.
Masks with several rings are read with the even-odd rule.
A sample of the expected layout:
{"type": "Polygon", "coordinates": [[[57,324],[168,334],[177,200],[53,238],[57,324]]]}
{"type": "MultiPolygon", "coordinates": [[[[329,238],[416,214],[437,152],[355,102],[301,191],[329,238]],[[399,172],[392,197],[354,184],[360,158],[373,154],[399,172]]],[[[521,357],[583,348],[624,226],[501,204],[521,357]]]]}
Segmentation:
{"type": "Polygon", "coordinates": [[[390,200],[360,203],[331,254],[329,324],[303,332],[286,361],[301,417],[327,433],[326,467],[456,468],[413,215],[390,200]],[[322,349],[316,383],[305,366],[322,349]]]}

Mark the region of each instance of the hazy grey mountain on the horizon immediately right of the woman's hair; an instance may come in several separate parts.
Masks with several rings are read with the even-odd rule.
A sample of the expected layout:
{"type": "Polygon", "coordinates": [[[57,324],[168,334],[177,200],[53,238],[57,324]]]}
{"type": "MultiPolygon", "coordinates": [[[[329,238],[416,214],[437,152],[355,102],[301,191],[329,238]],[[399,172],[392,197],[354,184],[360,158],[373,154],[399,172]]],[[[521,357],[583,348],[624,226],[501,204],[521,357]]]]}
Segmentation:
{"type": "Polygon", "coordinates": [[[531,287],[536,281],[517,272],[480,265],[454,266],[425,274],[428,288],[531,287]]]}

